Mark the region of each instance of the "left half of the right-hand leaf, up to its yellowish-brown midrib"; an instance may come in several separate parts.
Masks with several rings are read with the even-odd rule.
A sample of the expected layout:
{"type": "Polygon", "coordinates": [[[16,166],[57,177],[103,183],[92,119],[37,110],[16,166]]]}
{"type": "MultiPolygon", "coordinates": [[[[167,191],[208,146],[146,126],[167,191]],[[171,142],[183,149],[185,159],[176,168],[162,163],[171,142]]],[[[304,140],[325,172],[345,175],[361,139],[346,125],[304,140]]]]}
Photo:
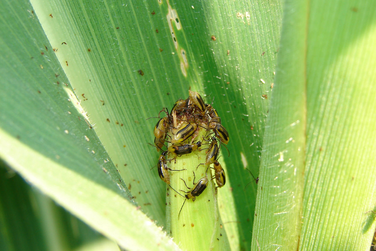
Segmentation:
{"type": "Polygon", "coordinates": [[[308,2],[285,2],[275,93],[261,157],[257,218],[252,235],[255,250],[299,247],[306,144],[307,11],[308,2]],[[290,68],[294,71],[289,71],[290,68]]]}

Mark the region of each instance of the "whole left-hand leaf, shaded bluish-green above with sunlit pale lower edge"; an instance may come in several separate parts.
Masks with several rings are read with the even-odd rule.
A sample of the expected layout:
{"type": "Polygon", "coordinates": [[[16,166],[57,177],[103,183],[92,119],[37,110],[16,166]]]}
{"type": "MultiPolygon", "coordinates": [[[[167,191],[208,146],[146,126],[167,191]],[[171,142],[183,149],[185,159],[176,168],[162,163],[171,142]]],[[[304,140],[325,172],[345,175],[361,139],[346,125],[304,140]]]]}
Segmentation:
{"type": "Polygon", "coordinates": [[[130,198],[29,5],[2,3],[0,157],[124,248],[178,249],[130,198]],[[18,37],[17,32],[25,32],[18,37]],[[120,210],[121,209],[121,210],[120,210]],[[133,229],[129,226],[138,226],[133,229]]]}

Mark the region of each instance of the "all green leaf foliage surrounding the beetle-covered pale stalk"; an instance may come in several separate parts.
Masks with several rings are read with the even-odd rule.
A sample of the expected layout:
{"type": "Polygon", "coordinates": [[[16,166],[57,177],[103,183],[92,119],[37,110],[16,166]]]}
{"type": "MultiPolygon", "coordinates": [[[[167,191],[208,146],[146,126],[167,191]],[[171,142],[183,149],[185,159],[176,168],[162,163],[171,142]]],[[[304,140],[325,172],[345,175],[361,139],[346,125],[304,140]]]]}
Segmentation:
{"type": "Polygon", "coordinates": [[[230,134],[218,201],[233,250],[370,244],[374,2],[0,7],[5,250],[113,247],[39,192],[122,248],[178,249],[161,230],[165,184],[147,144],[157,119],[146,119],[189,89],[213,102],[230,134]],[[260,172],[258,185],[245,167],[260,172]],[[82,227],[58,230],[68,218],[82,227]]]}

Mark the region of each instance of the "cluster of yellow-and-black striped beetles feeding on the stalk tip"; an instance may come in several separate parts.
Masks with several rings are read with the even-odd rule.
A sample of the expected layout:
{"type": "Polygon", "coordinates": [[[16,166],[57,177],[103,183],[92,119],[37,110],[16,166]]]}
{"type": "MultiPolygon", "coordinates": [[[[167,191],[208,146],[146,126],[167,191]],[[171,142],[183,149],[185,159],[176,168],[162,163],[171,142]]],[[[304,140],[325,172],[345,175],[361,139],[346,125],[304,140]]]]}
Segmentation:
{"type": "MultiPolygon", "coordinates": [[[[189,97],[187,99],[177,100],[170,113],[168,113],[167,109],[162,111],[166,113],[166,117],[161,118],[155,125],[154,143],[157,151],[162,150],[165,146],[165,142],[169,144],[168,147],[165,146],[167,150],[162,150],[163,152],[159,157],[157,165],[159,177],[165,183],[170,184],[170,174],[168,170],[171,169],[167,166],[168,155],[171,154],[171,156],[176,158],[176,156],[201,151],[200,148],[202,145],[209,145],[206,152],[205,163],[200,163],[199,166],[207,165],[209,169],[209,165],[214,164],[213,169],[215,175],[212,179],[215,178],[217,187],[224,186],[226,176],[217,159],[220,144],[227,144],[229,142],[229,134],[226,128],[221,124],[221,118],[218,116],[217,111],[210,104],[205,103],[200,94],[194,91],[189,91],[189,97]],[[205,130],[205,135],[202,136],[202,139],[199,136],[200,130],[205,130]],[[204,141],[208,141],[208,143],[203,143],[204,141]]],[[[196,170],[197,168],[198,166],[196,170]]],[[[206,171],[208,169],[206,169],[206,171]]],[[[194,172],[193,175],[194,178],[196,178],[194,172]]],[[[190,190],[188,192],[180,191],[186,193],[183,197],[194,201],[196,196],[199,196],[206,189],[208,182],[209,179],[207,175],[200,178],[197,183],[194,183],[193,180],[193,188],[186,186],[184,181],[185,186],[190,190]]]]}

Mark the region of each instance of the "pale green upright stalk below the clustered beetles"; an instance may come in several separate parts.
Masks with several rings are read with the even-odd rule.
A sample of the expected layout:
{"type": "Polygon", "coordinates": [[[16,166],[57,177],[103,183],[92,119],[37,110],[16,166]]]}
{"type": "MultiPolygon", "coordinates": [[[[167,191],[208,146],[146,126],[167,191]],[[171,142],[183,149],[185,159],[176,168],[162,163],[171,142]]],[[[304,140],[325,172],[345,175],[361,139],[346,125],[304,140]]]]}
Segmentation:
{"type": "MultiPolygon", "coordinates": [[[[202,138],[202,135],[206,134],[206,129],[199,127],[198,130],[196,139],[202,138]]],[[[203,145],[200,150],[168,161],[168,167],[172,170],[186,169],[170,171],[170,185],[176,191],[167,186],[166,196],[167,231],[170,231],[174,242],[182,250],[229,250],[226,231],[218,210],[217,189],[214,180],[211,180],[212,171],[207,165],[199,165],[205,163],[208,146],[203,145]],[[207,175],[208,187],[200,196],[196,197],[195,201],[192,201],[192,199],[185,201],[185,198],[181,195],[185,196],[186,193],[180,190],[189,192],[190,189],[185,186],[181,179],[185,181],[188,187],[193,188],[193,172],[196,176],[195,183],[207,175]],[[182,207],[183,203],[184,206],[182,207]]],[[[172,159],[175,156],[170,154],[169,158],[172,159]]]]}

